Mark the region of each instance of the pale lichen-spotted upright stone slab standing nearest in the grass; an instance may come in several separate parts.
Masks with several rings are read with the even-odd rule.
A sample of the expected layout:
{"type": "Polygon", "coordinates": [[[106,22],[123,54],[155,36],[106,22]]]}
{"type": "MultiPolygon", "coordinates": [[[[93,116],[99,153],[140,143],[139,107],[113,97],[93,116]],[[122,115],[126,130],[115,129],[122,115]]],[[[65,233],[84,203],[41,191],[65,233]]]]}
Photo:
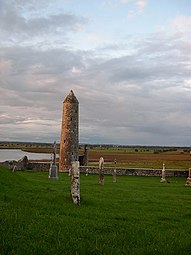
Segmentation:
{"type": "Polygon", "coordinates": [[[72,162],[71,168],[71,196],[72,201],[76,205],[80,205],[80,168],[79,161],[72,162]]]}

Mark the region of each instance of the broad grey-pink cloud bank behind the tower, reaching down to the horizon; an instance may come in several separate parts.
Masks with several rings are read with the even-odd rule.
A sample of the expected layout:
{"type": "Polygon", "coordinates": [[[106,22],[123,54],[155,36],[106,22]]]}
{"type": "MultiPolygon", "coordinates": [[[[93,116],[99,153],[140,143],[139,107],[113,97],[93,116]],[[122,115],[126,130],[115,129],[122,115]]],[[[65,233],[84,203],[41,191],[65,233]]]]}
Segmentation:
{"type": "Polygon", "coordinates": [[[168,41],[149,37],[118,58],[67,48],[2,48],[0,104],[8,117],[2,118],[1,134],[59,139],[62,102],[73,89],[80,102],[81,142],[189,145],[190,44],[168,41]]]}

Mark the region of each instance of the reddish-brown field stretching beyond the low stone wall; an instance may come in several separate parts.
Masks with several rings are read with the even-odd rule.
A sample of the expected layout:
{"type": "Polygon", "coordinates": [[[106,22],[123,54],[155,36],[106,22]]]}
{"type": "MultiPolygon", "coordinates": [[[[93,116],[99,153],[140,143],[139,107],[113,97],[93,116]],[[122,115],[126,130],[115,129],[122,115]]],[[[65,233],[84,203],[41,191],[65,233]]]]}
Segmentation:
{"type": "MultiPolygon", "coordinates": [[[[53,148],[49,146],[23,147],[22,150],[37,153],[52,153],[53,148]]],[[[83,154],[83,149],[80,149],[83,154]]],[[[59,148],[57,148],[59,153],[59,148]]],[[[88,150],[89,165],[98,164],[99,158],[103,157],[108,166],[113,166],[117,161],[117,167],[143,167],[166,169],[188,169],[191,167],[190,150],[181,148],[147,148],[147,147],[93,147],[88,150]]]]}

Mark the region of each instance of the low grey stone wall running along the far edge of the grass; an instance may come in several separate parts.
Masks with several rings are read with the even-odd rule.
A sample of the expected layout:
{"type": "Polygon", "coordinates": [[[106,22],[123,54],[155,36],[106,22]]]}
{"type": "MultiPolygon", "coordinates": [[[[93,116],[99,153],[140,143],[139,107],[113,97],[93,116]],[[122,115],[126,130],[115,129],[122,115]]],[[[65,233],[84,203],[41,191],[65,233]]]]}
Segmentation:
{"type": "MultiPolygon", "coordinates": [[[[8,161],[1,163],[6,167],[9,167],[8,161]]],[[[58,166],[58,165],[57,165],[58,166]]],[[[10,167],[9,167],[10,168],[10,167]]],[[[49,171],[50,162],[28,162],[25,169],[16,169],[16,171],[49,171]]],[[[10,168],[11,169],[11,168],[10,168]]],[[[112,174],[112,167],[104,167],[104,174],[112,174]]],[[[86,174],[98,174],[98,166],[80,166],[80,172],[86,174]]],[[[149,169],[149,168],[116,168],[117,175],[127,175],[127,176],[161,176],[162,169],[149,169]]],[[[178,170],[178,169],[166,169],[166,177],[188,177],[188,170],[178,170]]]]}

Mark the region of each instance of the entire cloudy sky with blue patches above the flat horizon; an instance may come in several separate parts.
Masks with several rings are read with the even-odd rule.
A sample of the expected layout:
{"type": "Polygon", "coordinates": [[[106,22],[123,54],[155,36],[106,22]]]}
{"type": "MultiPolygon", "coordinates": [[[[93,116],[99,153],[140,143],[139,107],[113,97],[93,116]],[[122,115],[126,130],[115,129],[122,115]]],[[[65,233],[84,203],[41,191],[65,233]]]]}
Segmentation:
{"type": "Polygon", "coordinates": [[[191,146],[190,0],[0,0],[0,140],[191,146]]]}

